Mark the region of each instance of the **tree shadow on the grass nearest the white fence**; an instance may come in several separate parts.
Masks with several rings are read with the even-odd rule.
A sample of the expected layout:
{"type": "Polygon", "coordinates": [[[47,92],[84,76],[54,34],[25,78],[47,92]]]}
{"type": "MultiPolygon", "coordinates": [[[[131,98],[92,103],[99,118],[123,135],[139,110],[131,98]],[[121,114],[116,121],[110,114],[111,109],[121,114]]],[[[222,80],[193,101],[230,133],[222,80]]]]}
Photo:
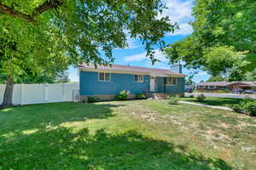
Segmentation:
{"type": "Polygon", "coordinates": [[[22,136],[26,130],[44,129],[66,122],[107,119],[114,116],[113,108],[120,106],[123,105],[53,103],[3,109],[0,110],[0,142],[9,133],[15,137],[22,136]]]}

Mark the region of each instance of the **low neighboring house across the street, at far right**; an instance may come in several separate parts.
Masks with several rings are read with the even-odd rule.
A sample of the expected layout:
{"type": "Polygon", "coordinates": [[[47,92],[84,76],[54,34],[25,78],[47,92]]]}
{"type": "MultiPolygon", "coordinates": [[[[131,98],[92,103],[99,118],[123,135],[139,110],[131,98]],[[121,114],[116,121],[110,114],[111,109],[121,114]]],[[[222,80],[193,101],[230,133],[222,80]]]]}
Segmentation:
{"type": "Polygon", "coordinates": [[[198,90],[229,90],[234,88],[250,89],[256,91],[256,82],[200,82],[197,84],[198,90]]]}

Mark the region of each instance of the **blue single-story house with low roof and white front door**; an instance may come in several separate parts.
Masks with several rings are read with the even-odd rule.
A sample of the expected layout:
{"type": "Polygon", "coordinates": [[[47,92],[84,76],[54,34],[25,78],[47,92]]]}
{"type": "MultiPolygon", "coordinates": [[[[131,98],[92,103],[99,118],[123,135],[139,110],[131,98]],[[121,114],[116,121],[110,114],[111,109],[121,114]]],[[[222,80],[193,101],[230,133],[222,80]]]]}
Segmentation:
{"type": "Polygon", "coordinates": [[[80,99],[113,99],[122,90],[129,90],[131,99],[136,94],[156,98],[183,95],[184,77],[175,71],[130,65],[79,65],[80,99]]]}

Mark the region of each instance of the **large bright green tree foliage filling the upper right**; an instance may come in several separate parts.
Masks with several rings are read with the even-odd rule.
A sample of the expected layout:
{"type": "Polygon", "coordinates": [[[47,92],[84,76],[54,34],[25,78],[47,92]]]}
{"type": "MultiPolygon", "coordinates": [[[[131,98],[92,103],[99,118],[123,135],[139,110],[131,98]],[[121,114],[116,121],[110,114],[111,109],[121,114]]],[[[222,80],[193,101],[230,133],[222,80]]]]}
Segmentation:
{"type": "Polygon", "coordinates": [[[241,79],[256,65],[255,10],[254,0],[196,0],[194,32],[166,48],[167,56],[213,76],[239,74],[241,79]]]}

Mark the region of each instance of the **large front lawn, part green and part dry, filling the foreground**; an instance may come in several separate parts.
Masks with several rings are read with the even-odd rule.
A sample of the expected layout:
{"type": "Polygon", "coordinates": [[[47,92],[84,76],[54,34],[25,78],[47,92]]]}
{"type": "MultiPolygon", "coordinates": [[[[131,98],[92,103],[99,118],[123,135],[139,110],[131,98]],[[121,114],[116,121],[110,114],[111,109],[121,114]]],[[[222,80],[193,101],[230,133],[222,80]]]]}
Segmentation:
{"type": "Polygon", "coordinates": [[[166,101],[0,111],[0,169],[256,169],[256,118],[166,101]]]}

